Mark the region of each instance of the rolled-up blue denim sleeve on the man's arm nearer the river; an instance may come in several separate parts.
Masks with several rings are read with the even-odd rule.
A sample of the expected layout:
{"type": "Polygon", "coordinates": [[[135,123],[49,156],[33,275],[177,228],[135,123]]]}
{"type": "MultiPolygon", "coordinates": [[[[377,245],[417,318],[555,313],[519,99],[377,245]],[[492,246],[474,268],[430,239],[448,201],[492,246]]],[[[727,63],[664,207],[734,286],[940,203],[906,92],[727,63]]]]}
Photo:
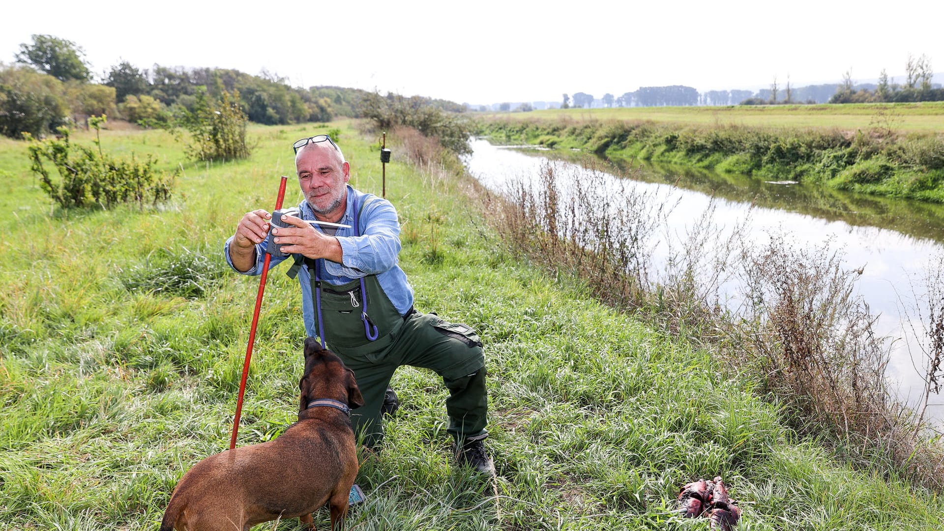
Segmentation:
{"type": "Polygon", "coordinates": [[[363,210],[361,236],[335,236],[341,244],[342,263],[326,260],[325,268],[329,274],[357,279],[396,266],[400,252],[400,224],[394,205],[378,199],[363,210]]]}

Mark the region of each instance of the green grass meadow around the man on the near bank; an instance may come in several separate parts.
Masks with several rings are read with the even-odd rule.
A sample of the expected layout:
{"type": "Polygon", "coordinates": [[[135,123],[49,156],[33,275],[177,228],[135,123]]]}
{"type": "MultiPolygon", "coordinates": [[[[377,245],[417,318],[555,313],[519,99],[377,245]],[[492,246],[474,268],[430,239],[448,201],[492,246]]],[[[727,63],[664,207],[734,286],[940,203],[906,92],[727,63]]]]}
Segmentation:
{"type": "MultiPolygon", "coordinates": [[[[352,183],[379,192],[374,139],[330,127],[343,131],[352,183]]],[[[172,203],[144,212],[56,212],[25,146],[0,141],[0,528],[155,529],[183,472],[227,448],[258,278],[229,273],[222,243],[245,211],[272,208],[278,175],[294,173],[291,142],[326,128],[251,128],[253,157],[227,164],[188,163],[160,131],[103,132],[105,149],[183,165],[172,203]]],[[[416,307],[474,326],[486,345],[498,479],[452,467],[445,387],[401,368],[402,406],[382,451],[362,456],[368,502],[348,528],[708,529],[672,509],[683,483],[714,475],[741,504],[739,529],[944,525],[934,494],[882,476],[881,463],[835,462],[709,352],[511,254],[463,195],[463,177],[394,155],[387,197],[416,307]]],[[[286,204],[298,198],[290,180],[286,204]]],[[[296,418],[304,328],[297,283],[280,269],[263,301],[240,445],[296,418]]],[[[327,526],[327,511],[315,522],[327,526]]]]}

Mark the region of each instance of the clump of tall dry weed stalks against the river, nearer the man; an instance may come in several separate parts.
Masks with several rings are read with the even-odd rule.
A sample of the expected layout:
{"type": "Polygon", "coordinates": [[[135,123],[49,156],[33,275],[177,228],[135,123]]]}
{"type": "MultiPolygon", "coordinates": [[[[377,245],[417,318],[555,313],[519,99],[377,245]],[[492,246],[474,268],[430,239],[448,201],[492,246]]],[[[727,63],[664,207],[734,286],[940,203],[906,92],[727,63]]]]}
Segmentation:
{"type": "Polygon", "coordinates": [[[608,181],[596,167],[560,175],[547,163],[536,186],[514,183],[507,197],[496,228],[514,247],[557,274],[579,274],[601,300],[645,303],[653,236],[670,212],[654,193],[608,181]]]}

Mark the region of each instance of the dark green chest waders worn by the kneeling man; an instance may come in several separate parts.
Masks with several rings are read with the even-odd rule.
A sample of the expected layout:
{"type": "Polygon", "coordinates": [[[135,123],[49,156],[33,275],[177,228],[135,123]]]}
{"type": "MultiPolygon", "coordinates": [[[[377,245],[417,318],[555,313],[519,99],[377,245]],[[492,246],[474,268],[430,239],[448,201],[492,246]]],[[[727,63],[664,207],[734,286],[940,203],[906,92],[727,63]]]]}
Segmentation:
{"type": "Polygon", "coordinates": [[[376,446],[383,437],[380,406],[390,378],[401,365],[431,368],[443,377],[449,389],[448,432],[460,445],[468,437],[487,435],[485,357],[475,331],[413,309],[400,316],[375,275],[368,275],[363,283],[333,285],[320,281],[320,261],[305,262],[316,311],[320,299],[318,334],[354,371],[363,395],[364,405],[351,411],[351,422],[355,433],[363,435],[365,445],[376,446]],[[362,294],[362,285],[366,294],[362,294]],[[369,316],[367,325],[377,327],[374,341],[365,333],[362,305],[369,316]]]}

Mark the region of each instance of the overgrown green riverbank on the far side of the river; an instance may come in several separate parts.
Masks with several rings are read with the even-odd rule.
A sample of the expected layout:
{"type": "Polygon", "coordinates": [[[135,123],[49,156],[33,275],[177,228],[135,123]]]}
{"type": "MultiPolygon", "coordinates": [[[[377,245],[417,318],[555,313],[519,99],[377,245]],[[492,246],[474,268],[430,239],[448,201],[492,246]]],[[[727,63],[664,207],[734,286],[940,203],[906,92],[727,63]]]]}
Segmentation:
{"type": "MultiPolygon", "coordinates": [[[[944,106],[927,109],[938,111],[944,119],[944,106]]],[[[827,112],[818,114],[824,124],[828,124],[827,112]]],[[[721,121],[683,124],[558,113],[547,118],[483,117],[479,132],[502,144],[581,149],[624,160],[710,168],[756,180],[797,180],[944,202],[944,134],[940,129],[900,130],[894,114],[898,111],[891,105],[874,112],[868,128],[852,130],[721,121]]]]}

